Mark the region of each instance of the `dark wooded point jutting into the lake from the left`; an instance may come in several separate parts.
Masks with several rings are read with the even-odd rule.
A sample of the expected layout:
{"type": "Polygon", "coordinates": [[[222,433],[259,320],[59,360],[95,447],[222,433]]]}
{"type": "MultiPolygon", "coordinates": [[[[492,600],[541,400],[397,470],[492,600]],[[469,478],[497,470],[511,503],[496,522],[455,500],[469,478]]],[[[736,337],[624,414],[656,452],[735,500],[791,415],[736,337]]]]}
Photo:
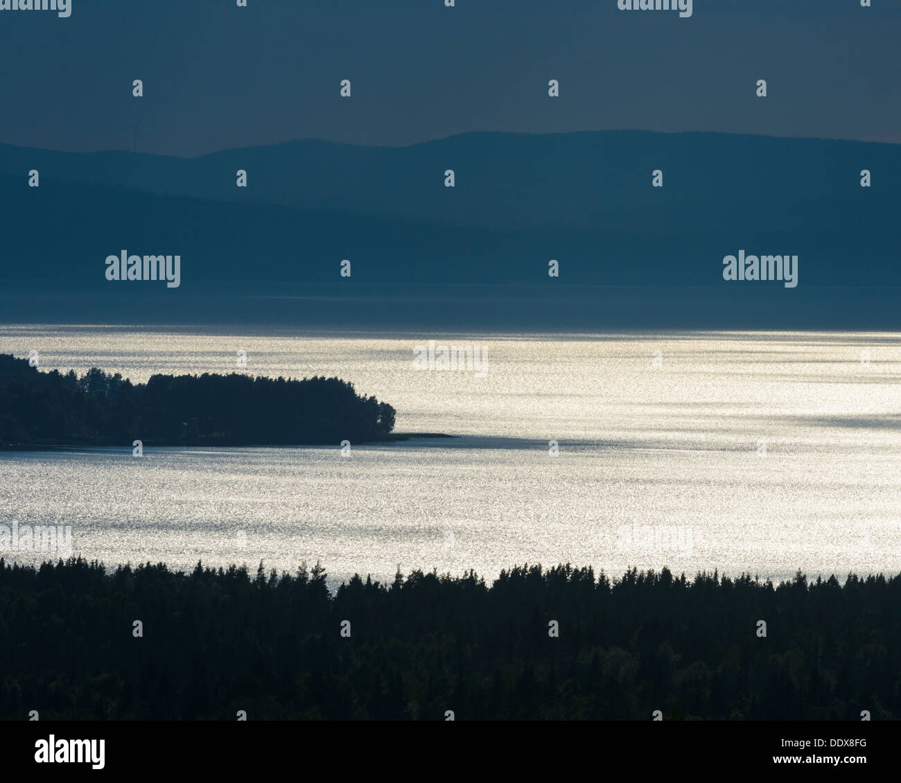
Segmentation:
{"type": "Polygon", "coordinates": [[[374,441],[395,409],[339,378],[40,372],[0,355],[0,445],[272,445],[374,441]]]}

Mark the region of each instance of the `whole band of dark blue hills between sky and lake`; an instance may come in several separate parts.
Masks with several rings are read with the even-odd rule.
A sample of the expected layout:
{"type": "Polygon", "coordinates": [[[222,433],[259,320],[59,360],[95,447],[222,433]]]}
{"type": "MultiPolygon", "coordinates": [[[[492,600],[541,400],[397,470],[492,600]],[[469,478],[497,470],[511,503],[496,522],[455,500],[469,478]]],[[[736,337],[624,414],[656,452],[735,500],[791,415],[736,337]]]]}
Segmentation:
{"type": "MultiPolygon", "coordinates": [[[[96,294],[98,316],[105,300],[239,283],[355,296],[529,286],[539,305],[563,286],[711,287],[709,296],[748,301],[767,288],[777,311],[793,306],[789,296],[811,301],[835,287],[817,306],[841,296],[852,321],[887,325],[890,314],[854,305],[851,288],[901,285],[899,182],[901,146],[720,133],[468,133],[406,148],[297,141],[197,159],[0,145],[0,279],[30,280],[32,294],[68,281],[96,294]],[[32,168],[39,188],[27,187],[32,168]],[[249,187],[235,187],[238,168],[249,187]],[[444,187],[447,168],[456,187],[444,187]],[[863,168],[872,187],[860,187],[863,168]],[[655,169],[662,188],[651,187],[655,169]],[[179,254],[181,288],[107,281],[105,258],[123,249],[179,254]],[[799,287],[724,282],[722,259],[739,250],[798,255],[799,287]],[[340,277],[341,259],[352,278],[340,277]]],[[[590,306],[587,289],[580,297],[590,306]]]]}

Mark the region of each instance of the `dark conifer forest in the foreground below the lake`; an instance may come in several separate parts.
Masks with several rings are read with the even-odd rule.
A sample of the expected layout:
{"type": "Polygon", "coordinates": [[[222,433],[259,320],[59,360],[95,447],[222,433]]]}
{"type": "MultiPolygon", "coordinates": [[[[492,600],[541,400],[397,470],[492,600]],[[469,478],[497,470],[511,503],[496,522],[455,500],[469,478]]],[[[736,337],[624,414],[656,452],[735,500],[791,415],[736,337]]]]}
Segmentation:
{"type": "Polygon", "coordinates": [[[0,718],[896,719],[898,605],[882,576],[535,566],[332,595],[318,565],[0,560],[0,718]]]}

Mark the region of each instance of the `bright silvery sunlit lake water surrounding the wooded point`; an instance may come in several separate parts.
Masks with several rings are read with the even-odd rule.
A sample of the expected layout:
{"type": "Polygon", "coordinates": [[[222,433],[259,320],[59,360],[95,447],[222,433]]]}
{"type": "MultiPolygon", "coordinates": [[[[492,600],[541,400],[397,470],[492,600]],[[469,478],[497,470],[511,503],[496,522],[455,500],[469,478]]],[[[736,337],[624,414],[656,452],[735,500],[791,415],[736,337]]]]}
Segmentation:
{"type": "MultiPolygon", "coordinates": [[[[454,439],[0,452],[0,524],[107,564],[332,579],[523,562],[790,578],[901,571],[901,335],[231,333],[0,326],[42,369],[337,375],[454,439]],[[414,368],[473,345],[487,372],[414,368]],[[556,442],[556,448],[552,442],[556,442]]],[[[41,560],[29,551],[0,553],[41,560]]],[[[333,584],[333,582],[332,582],[333,584]]]]}

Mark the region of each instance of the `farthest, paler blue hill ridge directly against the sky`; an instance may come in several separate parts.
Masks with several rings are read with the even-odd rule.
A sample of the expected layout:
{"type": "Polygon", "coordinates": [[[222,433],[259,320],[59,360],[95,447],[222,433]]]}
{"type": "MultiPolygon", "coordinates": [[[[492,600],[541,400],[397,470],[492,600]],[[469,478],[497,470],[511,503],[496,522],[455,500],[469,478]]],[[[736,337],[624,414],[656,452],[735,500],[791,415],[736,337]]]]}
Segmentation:
{"type": "Polygon", "coordinates": [[[688,233],[736,218],[878,226],[901,198],[901,145],[706,132],[465,133],[403,148],[293,141],[196,159],[0,145],[0,174],[30,168],[158,195],[491,230],[688,233]],[[235,186],[239,168],[247,188],[235,186]],[[443,187],[448,168],[454,188],[443,187]],[[862,168],[874,172],[869,189],[862,168]],[[654,169],[663,188],[651,188],[654,169]]]}

